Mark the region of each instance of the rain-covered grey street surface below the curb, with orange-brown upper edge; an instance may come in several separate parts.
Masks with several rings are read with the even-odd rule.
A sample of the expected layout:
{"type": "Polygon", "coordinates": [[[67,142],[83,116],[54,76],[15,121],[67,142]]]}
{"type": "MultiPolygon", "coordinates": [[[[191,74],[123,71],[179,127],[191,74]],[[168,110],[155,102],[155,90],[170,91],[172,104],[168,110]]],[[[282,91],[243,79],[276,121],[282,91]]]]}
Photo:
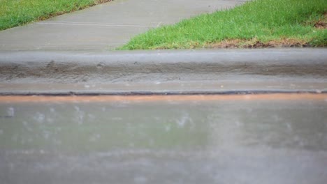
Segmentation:
{"type": "Polygon", "coordinates": [[[327,181],[327,94],[0,98],[0,183],[327,181]]]}

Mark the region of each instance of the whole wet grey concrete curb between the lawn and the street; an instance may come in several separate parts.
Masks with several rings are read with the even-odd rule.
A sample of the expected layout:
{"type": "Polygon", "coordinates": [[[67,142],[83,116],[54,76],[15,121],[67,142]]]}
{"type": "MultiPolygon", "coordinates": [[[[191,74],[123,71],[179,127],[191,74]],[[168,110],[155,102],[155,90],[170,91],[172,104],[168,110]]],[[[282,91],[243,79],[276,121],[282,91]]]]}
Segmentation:
{"type": "Polygon", "coordinates": [[[325,93],[326,49],[0,52],[0,94],[325,93]]]}

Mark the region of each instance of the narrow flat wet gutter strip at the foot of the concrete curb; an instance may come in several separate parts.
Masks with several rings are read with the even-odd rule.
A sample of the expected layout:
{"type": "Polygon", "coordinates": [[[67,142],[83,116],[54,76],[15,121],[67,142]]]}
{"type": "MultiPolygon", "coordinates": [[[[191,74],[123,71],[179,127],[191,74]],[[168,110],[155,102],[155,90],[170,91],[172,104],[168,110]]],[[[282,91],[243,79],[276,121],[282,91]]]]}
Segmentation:
{"type": "Polygon", "coordinates": [[[1,95],[137,95],[137,94],[327,93],[326,79],[242,76],[217,81],[31,84],[0,83],[1,95]],[[259,79],[258,79],[259,78],[259,79]]]}

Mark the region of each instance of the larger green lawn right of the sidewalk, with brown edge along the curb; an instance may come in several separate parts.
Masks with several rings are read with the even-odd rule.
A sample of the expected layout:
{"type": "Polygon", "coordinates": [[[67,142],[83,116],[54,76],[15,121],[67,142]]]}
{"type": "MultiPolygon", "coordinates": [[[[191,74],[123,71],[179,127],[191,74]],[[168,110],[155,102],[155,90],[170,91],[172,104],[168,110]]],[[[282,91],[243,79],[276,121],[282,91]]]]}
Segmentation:
{"type": "Polygon", "coordinates": [[[233,9],[151,29],[118,49],[326,47],[326,12],[327,0],[247,1],[233,9]]]}

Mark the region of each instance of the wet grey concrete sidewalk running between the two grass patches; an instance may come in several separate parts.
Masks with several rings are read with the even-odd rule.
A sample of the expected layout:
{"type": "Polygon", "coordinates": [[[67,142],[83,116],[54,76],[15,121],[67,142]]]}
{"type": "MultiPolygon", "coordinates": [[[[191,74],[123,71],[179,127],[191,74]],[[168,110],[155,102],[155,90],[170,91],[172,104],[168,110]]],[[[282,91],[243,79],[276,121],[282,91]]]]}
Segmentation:
{"type": "Polygon", "coordinates": [[[243,2],[245,0],[115,0],[0,31],[0,50],[113,49],[148,29],[243,2]]]}

